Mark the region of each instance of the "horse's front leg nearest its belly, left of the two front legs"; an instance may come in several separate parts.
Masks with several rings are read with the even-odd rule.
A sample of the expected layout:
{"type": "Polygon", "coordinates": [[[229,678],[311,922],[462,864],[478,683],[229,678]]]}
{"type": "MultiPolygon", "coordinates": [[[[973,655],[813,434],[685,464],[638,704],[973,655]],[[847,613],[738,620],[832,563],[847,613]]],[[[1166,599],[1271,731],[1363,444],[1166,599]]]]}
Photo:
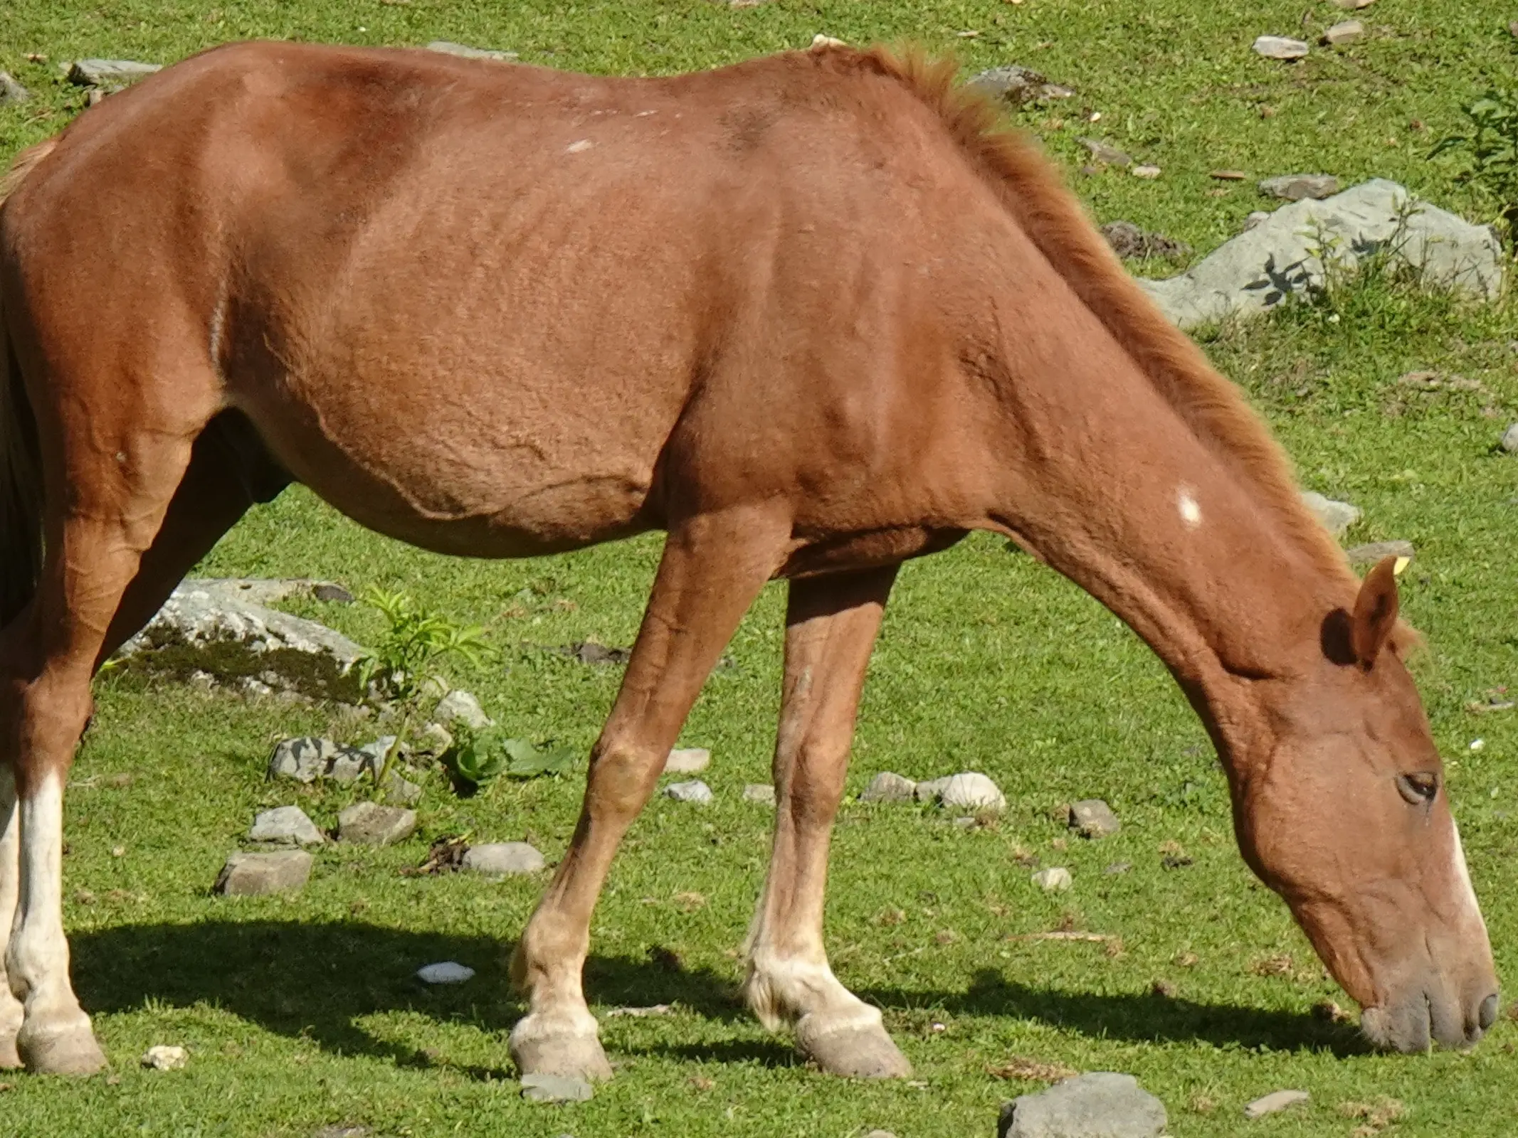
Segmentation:
{"type": "Polygon", "coordinates": [[[591,751],[569,851],[512,957],[512,979],[528,997],[510,1041],[524,1074],[612,1074],[580,986],[591,912],[701,684],[785,557],[789,534],[791,519],[768,505],[669,530],[622,689],[591,751]]]}

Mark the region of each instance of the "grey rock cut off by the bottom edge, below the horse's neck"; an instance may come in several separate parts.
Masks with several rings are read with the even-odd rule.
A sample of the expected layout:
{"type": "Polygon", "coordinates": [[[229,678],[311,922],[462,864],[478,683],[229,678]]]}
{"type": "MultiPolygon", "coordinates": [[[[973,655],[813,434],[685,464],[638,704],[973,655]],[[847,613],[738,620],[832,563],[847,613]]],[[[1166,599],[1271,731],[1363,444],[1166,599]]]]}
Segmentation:
{"type": "Polygon", "coordinates": [[[1131,1074],[1078,1074],[1002,1106],[997,1138],[1157,1138],[1164,1103],[1131,1074]]]}

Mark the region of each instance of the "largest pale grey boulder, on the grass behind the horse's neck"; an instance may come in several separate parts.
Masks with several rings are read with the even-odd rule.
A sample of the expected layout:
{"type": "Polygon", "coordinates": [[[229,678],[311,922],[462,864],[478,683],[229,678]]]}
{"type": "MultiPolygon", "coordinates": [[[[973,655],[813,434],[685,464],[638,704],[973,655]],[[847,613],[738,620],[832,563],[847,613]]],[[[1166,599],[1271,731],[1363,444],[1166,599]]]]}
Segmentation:
{"type": "Polygon", "coordinates": [[[1255,228],[1224,243],[1187,272],[1164,281],[1140,279],[1160,311],[1181,328],[1271,311],[1292,293],[1321,288],[1328,258],[1354,272],[1360,258],[1386,249],[1424,279],[1495,299],[1503,287],[1501,243],[1486,226],[1463,222],[1384,179],[1363,182],[1318,202],[1281,206],[1255,228]],[[1400,232],[1404,206],[1415,205],[1400,232]],[[1398,235],[1400,234],[1400,235],[1398,235]]]}

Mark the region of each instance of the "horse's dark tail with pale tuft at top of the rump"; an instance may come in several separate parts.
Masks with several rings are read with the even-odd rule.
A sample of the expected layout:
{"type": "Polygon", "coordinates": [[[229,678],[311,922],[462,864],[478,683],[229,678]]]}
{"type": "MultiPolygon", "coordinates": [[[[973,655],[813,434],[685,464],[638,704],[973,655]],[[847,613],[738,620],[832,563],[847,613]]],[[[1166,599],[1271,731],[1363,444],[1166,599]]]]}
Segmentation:
{"type": "MultiPolygon", "coordinates": [[[[55,146],[50,138],[23,150],[0,178],[0,218],[6,196],[55,146]]],[[[43,454],[5,308],[0,287],[0,628],[26,608],[43,567],[43,454]]]]}

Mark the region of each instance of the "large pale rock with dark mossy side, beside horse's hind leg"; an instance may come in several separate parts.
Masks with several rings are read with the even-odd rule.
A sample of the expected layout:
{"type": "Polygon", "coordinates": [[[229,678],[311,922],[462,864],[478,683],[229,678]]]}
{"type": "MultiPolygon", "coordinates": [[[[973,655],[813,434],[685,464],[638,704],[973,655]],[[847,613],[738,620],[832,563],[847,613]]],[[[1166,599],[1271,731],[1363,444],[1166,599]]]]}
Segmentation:
{"type": "Polygon", "coordinates": [[[357,701],[351,671],[363,648],[316,621],[266,607],[266,599],[285,596],[279,590],[296,584],[310,586],[184,581],[117,655],[134,668],[181,678],[209,672],[234,686],[254,681],[317,699],[357,701]]]}

